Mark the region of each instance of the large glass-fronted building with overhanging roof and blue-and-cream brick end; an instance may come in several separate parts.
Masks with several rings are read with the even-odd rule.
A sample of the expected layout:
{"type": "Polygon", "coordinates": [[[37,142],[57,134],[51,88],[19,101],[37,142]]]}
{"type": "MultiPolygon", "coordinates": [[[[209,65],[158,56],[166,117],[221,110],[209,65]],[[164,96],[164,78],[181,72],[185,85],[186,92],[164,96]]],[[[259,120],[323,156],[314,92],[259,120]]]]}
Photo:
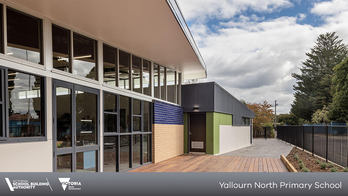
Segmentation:
{"type": "Polygon", "coordinates": [[[175,0],[0,10],[0,172],[119,172],[184,153],[181,84],[206,67],[175,0]]]}

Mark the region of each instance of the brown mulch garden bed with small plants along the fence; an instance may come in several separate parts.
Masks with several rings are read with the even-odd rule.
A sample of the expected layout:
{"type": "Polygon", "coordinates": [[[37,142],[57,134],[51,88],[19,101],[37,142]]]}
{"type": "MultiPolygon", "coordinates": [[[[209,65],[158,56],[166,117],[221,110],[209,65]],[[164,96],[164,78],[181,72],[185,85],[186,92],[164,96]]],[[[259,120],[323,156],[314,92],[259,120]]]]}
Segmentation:
{"type": "MultiPolygon", "coordinates": [[[[291,152],[286,156],[286,159],[295,167],[298,172],[302,172],[302,169],[299,167],[299,159],[295,159],[295,154],[298,154],[299,159],[303,160],[304,165],[310,170],[310,172],[330,172],[330,166],[327,165],[325,169],[321,168],[319,164],[317,164],[316,160],[320,160],[321,162],[325,162],[324,159],[321,159],[316,156],[312,156],[311,153],[306,151],[302,151],[300,149],[296,149],[295,147],[291,150],[291,152]]],[[[326,162],[329,164],[329,162],[326,162]]],[[[342,171],[342,167],[334,165],[334,167],[338,168],[337,172],[342,171]]]]}

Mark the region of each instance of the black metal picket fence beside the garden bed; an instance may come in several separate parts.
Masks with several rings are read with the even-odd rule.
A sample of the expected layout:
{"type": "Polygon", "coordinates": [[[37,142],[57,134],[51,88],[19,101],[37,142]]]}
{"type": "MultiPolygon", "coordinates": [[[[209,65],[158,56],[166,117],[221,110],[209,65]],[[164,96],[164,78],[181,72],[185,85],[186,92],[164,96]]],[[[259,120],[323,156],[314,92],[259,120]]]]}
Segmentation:
{"type": "Polygon", "coordinates": [[[348,166],[348,126],[277,126],[277,138],[348,166]]]}

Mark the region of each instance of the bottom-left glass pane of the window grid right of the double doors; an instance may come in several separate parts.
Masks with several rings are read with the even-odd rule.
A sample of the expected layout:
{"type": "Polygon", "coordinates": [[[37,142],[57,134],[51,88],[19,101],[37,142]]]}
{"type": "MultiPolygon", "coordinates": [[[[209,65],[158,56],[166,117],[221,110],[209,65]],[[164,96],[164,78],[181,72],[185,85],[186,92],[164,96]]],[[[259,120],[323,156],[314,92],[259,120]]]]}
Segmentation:
{"type": "Polygon", "coordinates": [[[104,136],[104,166],[103,172],[116,172],[117,159],[117,137],[104,136]]]}

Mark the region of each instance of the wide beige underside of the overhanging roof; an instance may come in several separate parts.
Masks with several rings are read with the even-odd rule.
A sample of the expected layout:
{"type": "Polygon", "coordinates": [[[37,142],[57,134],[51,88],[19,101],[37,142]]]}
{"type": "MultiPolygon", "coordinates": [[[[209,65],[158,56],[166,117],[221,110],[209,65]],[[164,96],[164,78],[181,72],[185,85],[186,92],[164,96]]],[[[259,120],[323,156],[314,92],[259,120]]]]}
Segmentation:
{"type": "Polygon", "coordinates": [[[184,72],[205,70],[165,0],[8,0],[19,7],[184,72]]]}

